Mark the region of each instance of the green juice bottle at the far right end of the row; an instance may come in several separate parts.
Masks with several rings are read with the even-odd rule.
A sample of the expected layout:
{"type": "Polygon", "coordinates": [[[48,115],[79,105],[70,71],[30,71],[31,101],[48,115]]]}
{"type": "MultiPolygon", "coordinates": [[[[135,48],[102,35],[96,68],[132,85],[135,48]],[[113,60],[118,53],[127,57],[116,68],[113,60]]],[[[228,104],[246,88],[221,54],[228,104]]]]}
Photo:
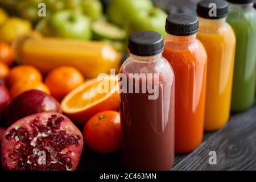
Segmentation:
{"type": "Polygon", "coordinates": [[[228,23],[237,39],[234,64],[232,111],[253,105],[256,85],[256,10],[253,0],[228,0],[228,23]]]}

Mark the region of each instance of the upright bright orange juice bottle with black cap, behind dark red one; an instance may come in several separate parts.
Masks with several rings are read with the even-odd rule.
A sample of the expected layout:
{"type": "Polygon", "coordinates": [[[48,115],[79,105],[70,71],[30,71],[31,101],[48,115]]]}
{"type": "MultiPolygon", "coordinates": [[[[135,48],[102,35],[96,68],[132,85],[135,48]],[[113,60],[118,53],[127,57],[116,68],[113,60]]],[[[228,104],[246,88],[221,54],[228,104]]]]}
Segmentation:
{"type": "Polygon", "coordinates": [[[194,150],[203,139],[207,54],[196,39],[198,19],[174,14],[166,19],[163,56],[175,73],[175,152],[194,150]]]}

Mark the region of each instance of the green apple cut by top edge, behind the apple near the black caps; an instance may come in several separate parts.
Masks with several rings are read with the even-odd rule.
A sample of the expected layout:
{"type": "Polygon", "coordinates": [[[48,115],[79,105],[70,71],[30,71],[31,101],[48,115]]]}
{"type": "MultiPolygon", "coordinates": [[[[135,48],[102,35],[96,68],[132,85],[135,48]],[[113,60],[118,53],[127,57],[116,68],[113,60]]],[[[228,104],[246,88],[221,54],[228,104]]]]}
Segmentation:
{"type": "Polygon", "coordinates": [[[124,26],[127,20],[133,20],[137,14],[153,9],[153,3],[150,0],[112,0],[107,7],[109,19],[124,26]]]}

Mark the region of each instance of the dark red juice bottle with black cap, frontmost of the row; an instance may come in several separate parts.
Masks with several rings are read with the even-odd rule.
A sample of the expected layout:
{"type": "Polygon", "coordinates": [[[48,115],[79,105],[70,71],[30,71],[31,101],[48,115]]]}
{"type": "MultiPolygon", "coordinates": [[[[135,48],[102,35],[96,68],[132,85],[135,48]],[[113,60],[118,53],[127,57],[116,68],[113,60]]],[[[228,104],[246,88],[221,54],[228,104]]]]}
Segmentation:
{"type": "Polygon", "coordinates": [[[152,31],[129,38],[119,73],[123,160],[131,170],[170,170],[174,163],[174,71],[163,38],[152,31]],[[154,91],[153,91],[154,90],[154,91]]]}

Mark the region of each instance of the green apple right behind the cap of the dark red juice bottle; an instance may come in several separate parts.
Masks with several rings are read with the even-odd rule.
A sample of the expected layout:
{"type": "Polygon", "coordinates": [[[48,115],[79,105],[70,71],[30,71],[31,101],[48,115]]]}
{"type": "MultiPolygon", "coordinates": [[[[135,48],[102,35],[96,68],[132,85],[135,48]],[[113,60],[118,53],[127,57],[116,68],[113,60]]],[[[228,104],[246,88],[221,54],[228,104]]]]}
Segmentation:
{"type": "Polygon", "coordinates": [[[130,22],[127,21],[125,30],[128,34],[132,34],[136,31],[151,30],[156,31],[165,37],[166,31],[164,27],[166,18],[167,14],[163,10],[155,7],[150,11],[138,13],[134,19],[130,20],[130,22]]]}

